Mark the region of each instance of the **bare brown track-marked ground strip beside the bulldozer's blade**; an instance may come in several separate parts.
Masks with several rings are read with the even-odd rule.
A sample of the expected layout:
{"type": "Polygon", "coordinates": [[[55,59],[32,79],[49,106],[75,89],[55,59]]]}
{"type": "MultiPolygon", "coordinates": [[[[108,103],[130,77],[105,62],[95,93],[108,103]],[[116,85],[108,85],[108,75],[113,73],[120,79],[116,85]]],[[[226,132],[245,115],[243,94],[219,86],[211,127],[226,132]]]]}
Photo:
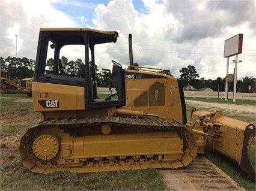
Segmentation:
{"type": "Polygon", "coordinates": [[[197,156],[189,166],[160,170],[169,190],[215,191],[245,190],[204,156],[197,156]]]}

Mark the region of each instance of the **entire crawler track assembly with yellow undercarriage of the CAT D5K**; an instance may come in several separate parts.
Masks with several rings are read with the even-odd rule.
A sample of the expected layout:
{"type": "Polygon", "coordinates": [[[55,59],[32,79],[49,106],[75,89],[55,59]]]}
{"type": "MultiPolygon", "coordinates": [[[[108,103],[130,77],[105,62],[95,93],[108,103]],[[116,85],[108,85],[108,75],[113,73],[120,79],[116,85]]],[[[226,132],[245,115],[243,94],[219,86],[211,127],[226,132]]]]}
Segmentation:
{"type": "Polygon", "coordinates": [[[46,119],[29,128],[20,140],[19,153],[24,166],[44,174],[176,169],[195,158],[197,141],[190,129],[174,120],[59,118],[46,119]],[[89,148],[90,152],[85,153],[89,148]]]}

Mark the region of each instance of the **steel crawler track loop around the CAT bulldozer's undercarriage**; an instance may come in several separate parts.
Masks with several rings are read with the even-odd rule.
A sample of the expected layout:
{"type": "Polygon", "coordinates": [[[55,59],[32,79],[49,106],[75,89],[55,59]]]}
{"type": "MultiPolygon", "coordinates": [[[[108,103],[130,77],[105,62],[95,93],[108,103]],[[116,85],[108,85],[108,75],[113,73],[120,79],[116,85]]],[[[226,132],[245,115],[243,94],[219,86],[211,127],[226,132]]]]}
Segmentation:
{"type": "MultiPolygon", "coordinates": [[[[87,118],[67,118],[67,119],[46,119],[35,126],[28,129],[25,135],[20,140],[19,147],[20,157],[24,166],[29,168],[32,172],[40,173],[52,173],[55,171],[70,171],[70,172],[99,172],[99,171],[118,171],[118,170],[129,170],[129,169],[146,169],[146,168],[180,168],[187,166],[197,155],[197,141],[195,135],[187,129],[186,126],[181,125],[174,120],[157,120],[157,119],[139,119],[135,117],[87,117],[87,118]],[[146,163],[133,163],[129,165],[120,165],[119,162],[114,165],[100,166],[99,163],[95,163],[94,166],[58,166],[56,163],[47,163],[45,166],[38,165],[43,163],[32,154],[32,140],[40,129],[44,128],[56,128],[64,129],[67,127],[83,128],[93,127],[99,125],[109,126],[124,126],[130,128],[141,128],[141,129],[158,129],[159,131],[177,130],[184,134],[186,138],[187,146],[183,150],[183,157],[180,160],[174,162],[153,162],[146,163]]],[[[157,153],[156,153],[157,154],[157,153]]]]}

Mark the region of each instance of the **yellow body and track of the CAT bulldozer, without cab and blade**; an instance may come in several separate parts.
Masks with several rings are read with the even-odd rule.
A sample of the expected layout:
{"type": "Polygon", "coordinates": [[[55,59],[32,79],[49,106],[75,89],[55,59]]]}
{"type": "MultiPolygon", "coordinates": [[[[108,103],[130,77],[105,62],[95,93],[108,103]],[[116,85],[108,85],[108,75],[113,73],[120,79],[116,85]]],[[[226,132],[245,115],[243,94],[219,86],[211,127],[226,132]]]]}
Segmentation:
{"type": "Polygon", "coordinates": [[[181,111],[177,80],[160,76],[163,79],[145,80],[147,86],[132,86],[135,81],[127,80],[127,105],[93,110],[85,110],[83,87],[32,82],[34,110],[41,112],[42,122],[20,141],[23,164],[40,173],[189,165],[197,154],[197,142],[192,131],[172,120],[170,113],[181,111]],[[139,96],[145,94],[139,105],[139,96]],[[144,119],[145,113],[153,116],[144,119]]]}

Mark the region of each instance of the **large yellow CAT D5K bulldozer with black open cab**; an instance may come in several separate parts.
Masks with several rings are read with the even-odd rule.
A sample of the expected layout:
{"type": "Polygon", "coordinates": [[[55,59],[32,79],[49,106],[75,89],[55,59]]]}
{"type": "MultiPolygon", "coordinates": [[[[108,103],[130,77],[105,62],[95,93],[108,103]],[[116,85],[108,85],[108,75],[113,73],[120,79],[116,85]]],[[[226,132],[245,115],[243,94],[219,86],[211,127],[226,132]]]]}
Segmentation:
{"type": "Polygon", "coordinates": [[[187,123],[181,81],[162,69],[133,65],[131,34],[130,65],[124,69],[112,60],[112,93],[101,97],[96,62],[100,50],[108,48],[103,44],[117,39],[116,31],[40,29],[32,98],[41,122],[20,140],[23,165],[44,174],[177,169],[208,148],[233,160],[255,180],[250,162],[255,125],[220,111],[195,109],[187,123]],[[85,77],[67,71],[61,58],[68,53],[82,58],[85,77]],[[49,74],[50,58],[54,64],[49,74]]]}

